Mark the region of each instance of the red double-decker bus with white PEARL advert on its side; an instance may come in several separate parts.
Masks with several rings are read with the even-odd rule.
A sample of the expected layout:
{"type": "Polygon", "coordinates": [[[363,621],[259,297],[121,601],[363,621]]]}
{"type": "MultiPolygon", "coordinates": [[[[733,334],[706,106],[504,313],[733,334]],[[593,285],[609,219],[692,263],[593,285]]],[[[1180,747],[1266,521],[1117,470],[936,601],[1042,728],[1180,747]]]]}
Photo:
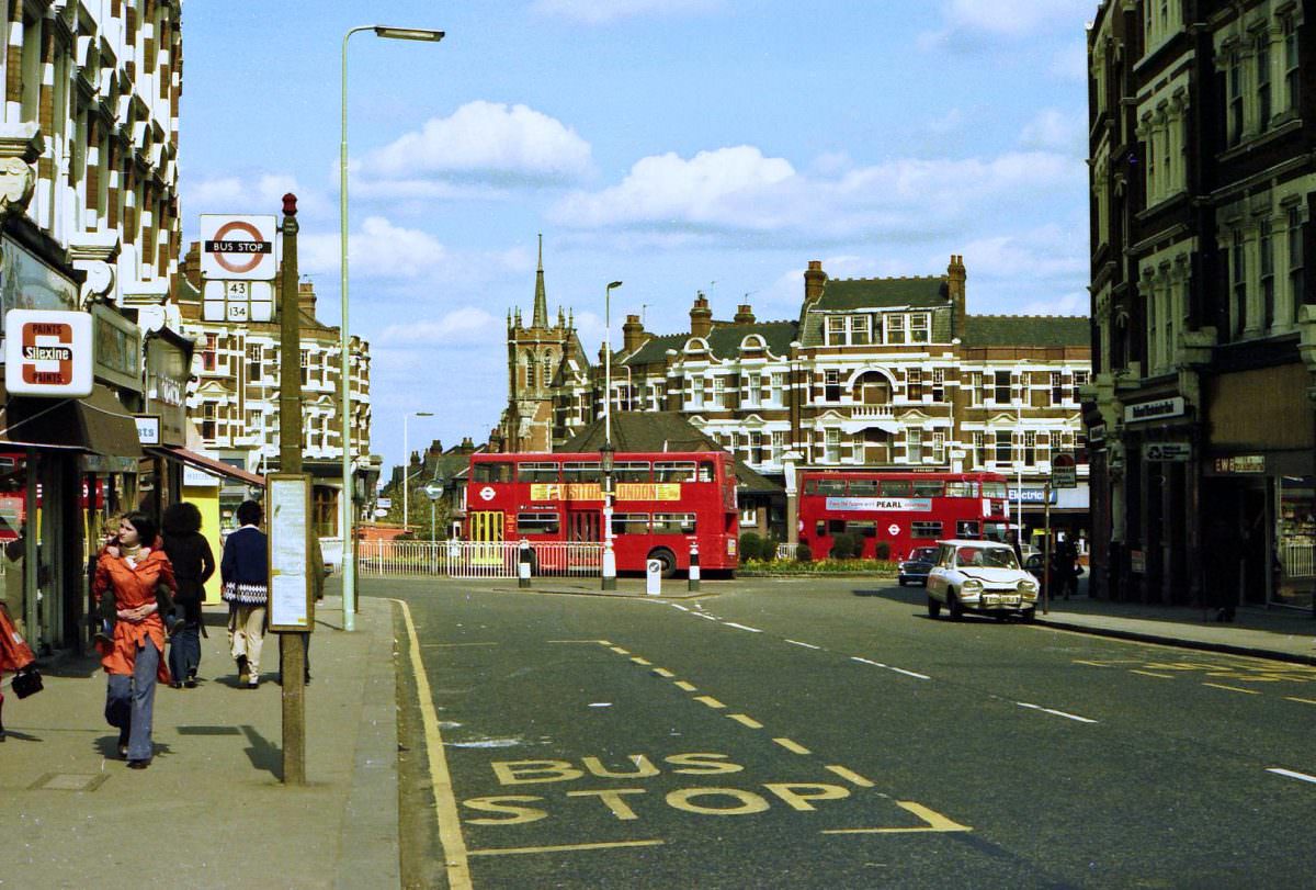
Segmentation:
{"type": "Polygon", "coordinates": [[[891,560],[938,538],[1004,540],[1009,524],[1005,477],[998,473],[800,474],[800,542],[825,560],[836,536],[855,535],[861,557],[886,541],[891,560]]]}

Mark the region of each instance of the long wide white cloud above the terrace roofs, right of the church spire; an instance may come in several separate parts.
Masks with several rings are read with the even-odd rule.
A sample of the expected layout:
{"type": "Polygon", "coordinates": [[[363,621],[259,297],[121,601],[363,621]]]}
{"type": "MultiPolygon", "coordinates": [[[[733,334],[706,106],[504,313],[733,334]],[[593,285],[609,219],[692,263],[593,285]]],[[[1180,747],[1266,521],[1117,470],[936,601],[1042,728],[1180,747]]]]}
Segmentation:
{"type": "Polygon", "coordinates": [[[559,224],[637,233],[659,246],[733,240],[792,245],[951,234],[1001,207],[1082,190],[1078,157],[1013,151],[995,158],[903,158],[869,167],[796,172],[751,146],[644,158],[625,179],[597,192],[575,191],[551,208],[559,224]]]}

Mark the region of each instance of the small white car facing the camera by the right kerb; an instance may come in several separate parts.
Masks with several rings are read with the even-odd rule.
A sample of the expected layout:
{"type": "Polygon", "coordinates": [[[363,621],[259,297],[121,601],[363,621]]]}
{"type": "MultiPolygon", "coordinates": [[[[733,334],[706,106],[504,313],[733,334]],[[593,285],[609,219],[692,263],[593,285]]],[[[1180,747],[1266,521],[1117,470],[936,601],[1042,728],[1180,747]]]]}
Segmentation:
{"type": "Polygon", "coordinates": [[[937,561],[928,573],[928,615],[937,617],[942,606],[954,620],[978,612],[1032,621],[1037,579],[1019,565],[1008,544],[937,541],[937,561]]]}

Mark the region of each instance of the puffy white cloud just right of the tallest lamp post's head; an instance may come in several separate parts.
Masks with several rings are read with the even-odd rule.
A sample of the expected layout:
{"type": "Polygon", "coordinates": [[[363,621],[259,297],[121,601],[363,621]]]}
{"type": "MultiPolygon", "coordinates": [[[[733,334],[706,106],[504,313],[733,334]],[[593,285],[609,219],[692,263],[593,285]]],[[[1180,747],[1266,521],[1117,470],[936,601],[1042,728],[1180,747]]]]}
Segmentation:
{"type": "Polygon", "coordinates": [[[570,183],[591,169],[590,144],[526,105],[471,101],[449,117],[371,151],[353,169],[363,180],[428,178],[503,186],[570,183]]]}

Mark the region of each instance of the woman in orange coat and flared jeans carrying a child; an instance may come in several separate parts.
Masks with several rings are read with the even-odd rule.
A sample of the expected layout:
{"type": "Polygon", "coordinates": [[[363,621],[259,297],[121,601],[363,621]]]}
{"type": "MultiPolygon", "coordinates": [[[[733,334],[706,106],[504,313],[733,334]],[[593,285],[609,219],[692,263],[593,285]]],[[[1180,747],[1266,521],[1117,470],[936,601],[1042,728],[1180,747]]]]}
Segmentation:
{"type": "Polygon", "coordinates": [[[168,682],[164,621],[155,600],[163,585],[175,590],[174,566],[157,546],[155,523],[141,512],[118,521],[117,546],[107,546],[96,561],[96,599],[114,598],[118,620],[112,644],[97,642],[100,664],[109,677],[105,720],[118,729],[118,756],[133,769],[151,762],[151,718],[157,681],[168,682]]]}

